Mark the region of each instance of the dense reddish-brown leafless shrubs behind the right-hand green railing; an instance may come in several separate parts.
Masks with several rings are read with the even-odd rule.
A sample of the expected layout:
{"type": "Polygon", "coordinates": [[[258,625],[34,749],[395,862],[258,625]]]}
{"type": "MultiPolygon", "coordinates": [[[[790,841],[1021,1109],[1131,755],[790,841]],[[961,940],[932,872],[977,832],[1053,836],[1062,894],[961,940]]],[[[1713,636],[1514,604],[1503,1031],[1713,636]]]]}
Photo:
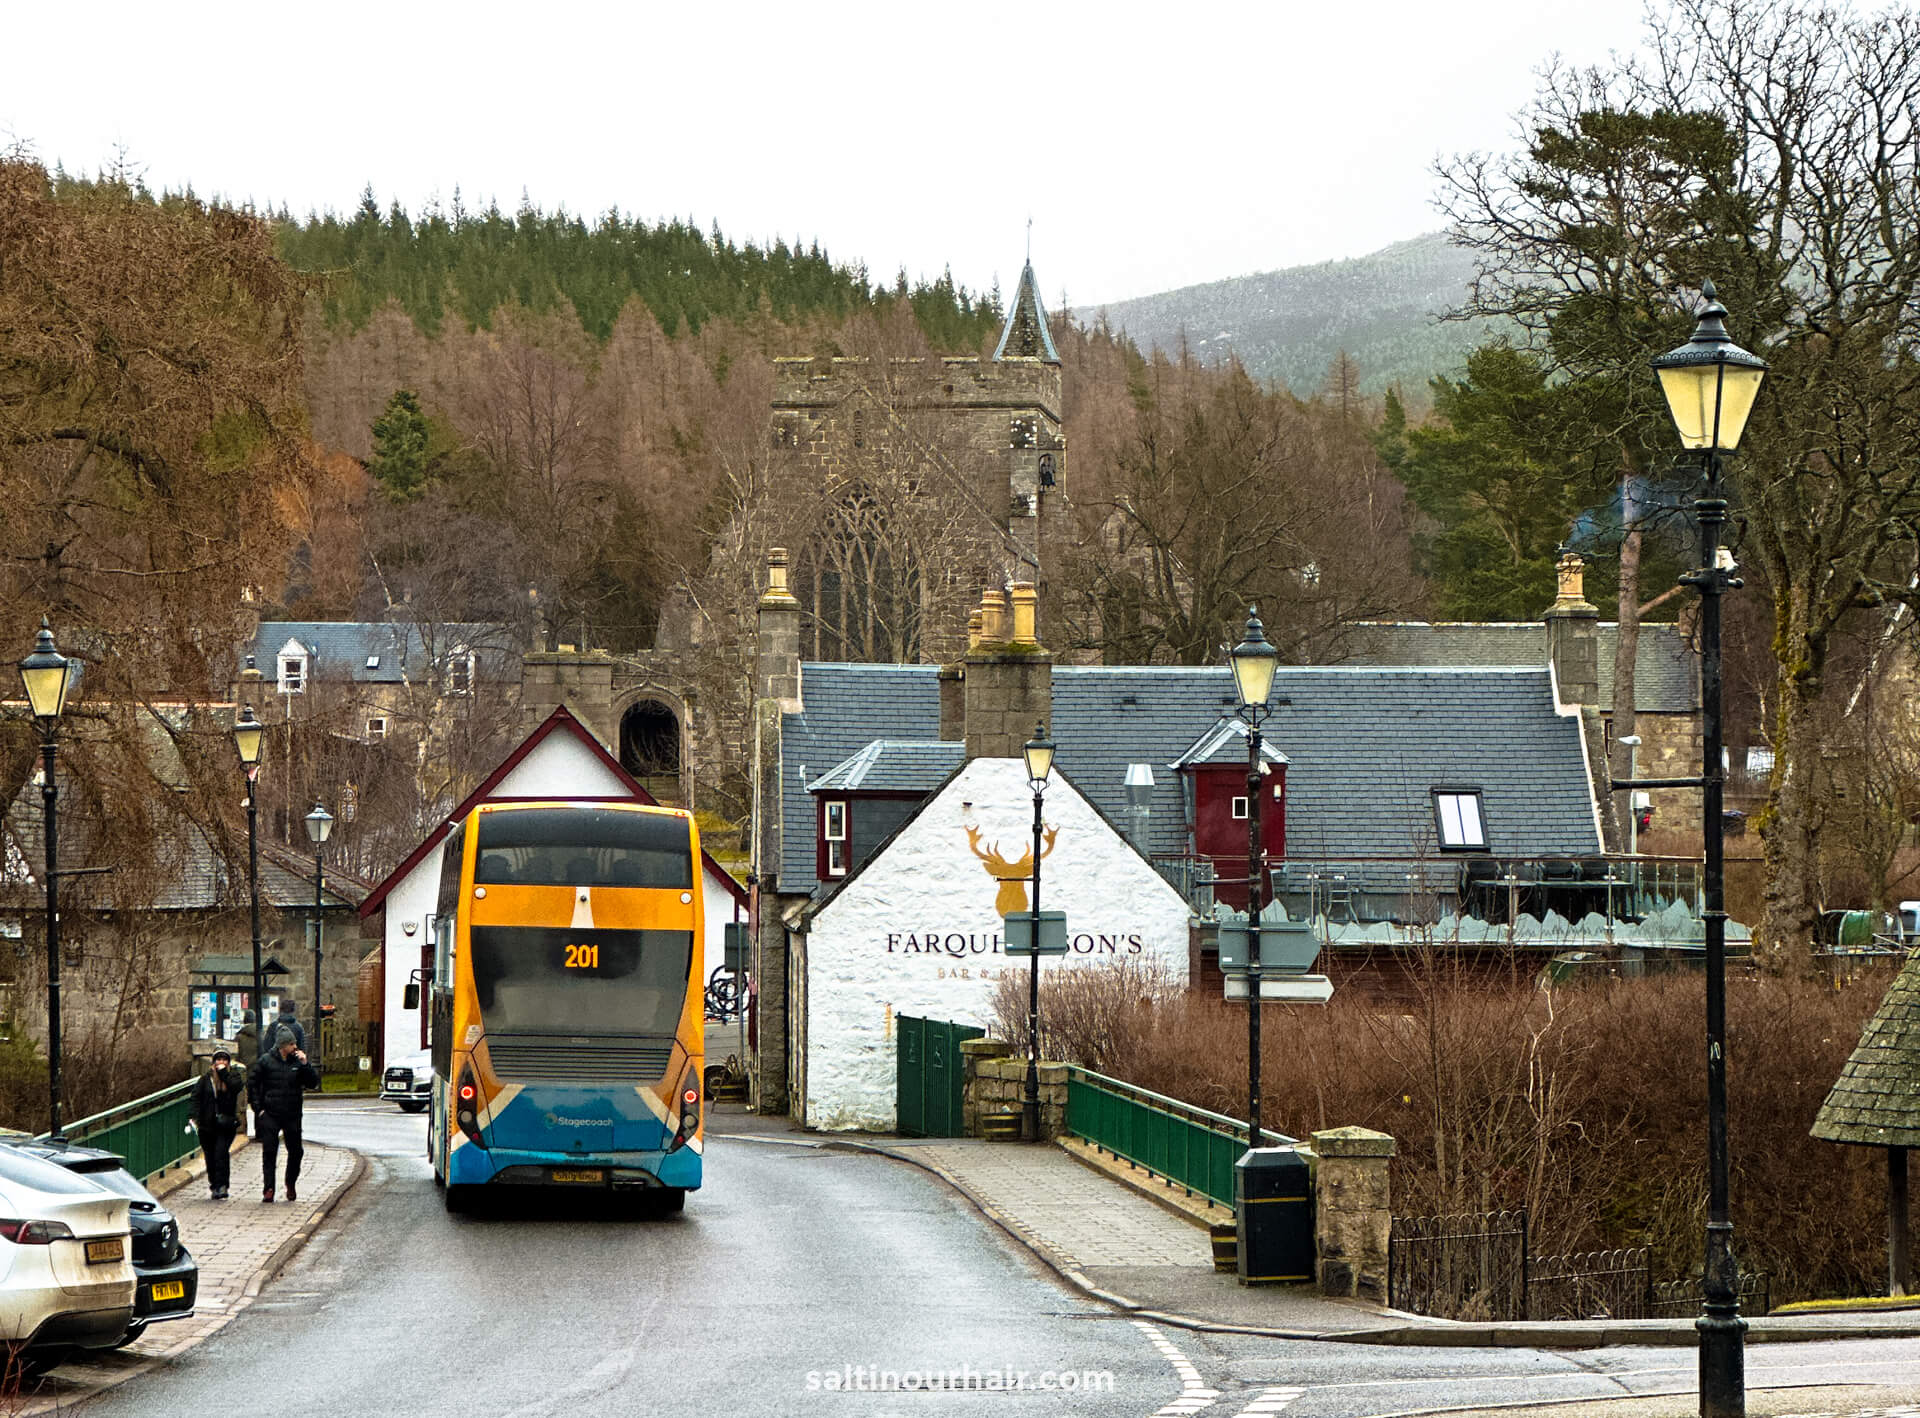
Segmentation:
{"type": "MultiPolygon", "coordinates": [[[[1267,1005],[1267,1126],[1392,1134],[1398,1215],[1524,1205],[1536,1251],[1651,1245],[1655,1274],[1695,1274],[1707,1217],[1701,977],[1542,990],[1530,971],[1448,952],[1405,965],[1405,1004],[1340,990],[1325,1007],[1267,1005]]],[[[1837,990],[1747,971],[1728,981],[1734,1226],[1741,1266],[1770,1270],[1776,1301],[1872,1293],[1884,1280],[1884,1155],[1807,1130],[1885,984],[1885,973],[1837,990]]],[[[1242,1005],[1164,998],[1125,1019],[1112,1055],[1129,1082],[1244,1117],[1242,1005]]]]}

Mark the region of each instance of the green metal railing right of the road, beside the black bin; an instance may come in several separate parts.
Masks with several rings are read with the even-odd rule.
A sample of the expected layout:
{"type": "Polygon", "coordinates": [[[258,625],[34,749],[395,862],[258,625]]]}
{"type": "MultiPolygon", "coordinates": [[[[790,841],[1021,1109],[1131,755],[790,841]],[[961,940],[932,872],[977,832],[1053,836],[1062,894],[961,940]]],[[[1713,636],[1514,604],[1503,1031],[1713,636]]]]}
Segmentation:
{"type": "MultiPolygon", "coordinates": [[[[1167,1178],[1188,1195],[1233,1205],[1233,1165],[1246,1151],[1246,1123],[1225,1113],[1069,1067],[1068,1132],[1167,1178]]],[[[1267,1147],[1294,1142],[1269,1128],[1260,1134],[1267,1147]]]]}

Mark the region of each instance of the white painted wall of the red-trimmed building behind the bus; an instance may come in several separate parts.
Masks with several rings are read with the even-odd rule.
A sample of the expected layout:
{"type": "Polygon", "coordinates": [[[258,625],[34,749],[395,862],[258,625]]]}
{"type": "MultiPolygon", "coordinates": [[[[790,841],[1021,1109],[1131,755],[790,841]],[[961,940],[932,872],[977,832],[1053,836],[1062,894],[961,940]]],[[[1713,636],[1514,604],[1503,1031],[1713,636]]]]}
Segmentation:
{"type": "MultiPolygon", "coordinates": [[[[607,798],[626,789],[607,764],[580,739],[566,731],[549,733],[534,750],[513,766],[513,771],[488,794],[501,798],[607,798]]],[[[386,1057],[420,1048],[420,1011],[403,1005],[407,977],[420,967],[420,942],[426,940],[426,915],[440,894],[440,862],[444,846],[436,846],[388,892],[382,910],[386,927],[386,1057]],[[407,927],[413,934],[407,934],[407,927]]],[[[726,921],[747,919],[745,906],[735,915],[733,896],[722,885],[720,873],[705,871],[703,896],[707,908],[707,969],[722,961],[720,942],[726,921]]]]}

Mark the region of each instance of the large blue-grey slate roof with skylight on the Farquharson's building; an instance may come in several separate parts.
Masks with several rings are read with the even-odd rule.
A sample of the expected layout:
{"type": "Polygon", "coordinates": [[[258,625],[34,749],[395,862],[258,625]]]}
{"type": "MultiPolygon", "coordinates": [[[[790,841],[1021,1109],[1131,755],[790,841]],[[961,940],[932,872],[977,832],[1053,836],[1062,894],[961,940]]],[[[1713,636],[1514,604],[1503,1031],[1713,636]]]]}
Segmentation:
{"type": "MultiPolygon", "coordinates": [[[[806,664],[804,714],[781,733],[781,892],[814,888],[820,777],[876,739],[939,737],[935,666],[806,664]]],[[[1553,708],[1544,666],[1281,666],[1267,741],[1290,762],[1288,854],[1407,858],[1430,850],[1434,787],[1480,789],[1496,856],[1601,850],[1578,720],[1553,708]]],[[[1148,848],[1187,852],[1171,764],[1233,712],[1225,666],[1054,666],[1056,766],[1127,821],[1129,764],[1154,769],[1148,848]]]]}

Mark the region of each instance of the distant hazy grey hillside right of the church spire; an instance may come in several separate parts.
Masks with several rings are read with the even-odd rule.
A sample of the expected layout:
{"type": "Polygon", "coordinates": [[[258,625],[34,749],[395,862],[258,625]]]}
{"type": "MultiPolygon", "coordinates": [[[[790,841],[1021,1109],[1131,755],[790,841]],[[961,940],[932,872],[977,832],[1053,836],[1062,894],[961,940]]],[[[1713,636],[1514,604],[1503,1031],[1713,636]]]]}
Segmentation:
{"type": "Polygon", "coordinates": [[[1482,324],[1434,319],[1463,299],[1471,274],[1473,259],[1432,232],[1352,261],[1213,280],[1077,315],[1096,320],[1104,311],[1140,349],[1171,353],[1185,332],[1202,359],[1233,351],[1256,376],[1302,395],[1319,388],[1342,349],[1359,365],[1361,388],[1419,390],[1486,336],[1482,324]]]}

